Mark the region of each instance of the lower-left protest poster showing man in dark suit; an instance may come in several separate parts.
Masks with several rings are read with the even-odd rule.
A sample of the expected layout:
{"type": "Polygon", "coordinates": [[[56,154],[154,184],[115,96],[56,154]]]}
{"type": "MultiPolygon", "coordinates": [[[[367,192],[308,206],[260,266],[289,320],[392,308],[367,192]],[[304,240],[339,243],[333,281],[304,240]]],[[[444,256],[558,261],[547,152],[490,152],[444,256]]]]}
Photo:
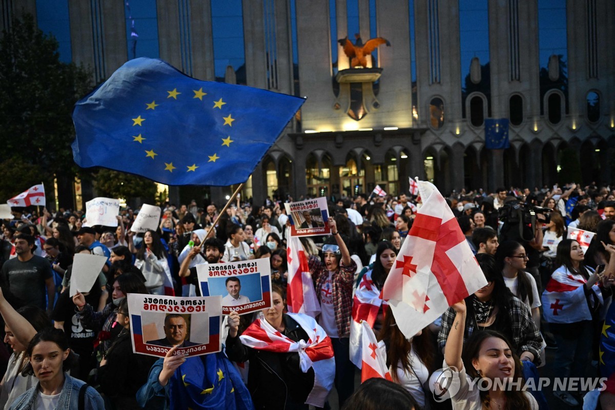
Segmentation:
{"type": "Polygon", "coordinates": [[[176,355],[200,356],[222,349],[220,296],[129,293],[127,298],[133,352],[165,357],[177,345],[176,355]]]}

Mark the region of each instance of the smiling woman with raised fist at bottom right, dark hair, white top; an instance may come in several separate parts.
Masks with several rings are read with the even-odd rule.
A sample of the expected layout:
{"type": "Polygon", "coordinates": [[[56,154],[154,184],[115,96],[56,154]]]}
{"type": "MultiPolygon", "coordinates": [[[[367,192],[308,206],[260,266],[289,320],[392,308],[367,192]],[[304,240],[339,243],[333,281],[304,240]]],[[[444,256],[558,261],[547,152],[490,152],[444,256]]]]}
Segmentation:
{"type": "Polygon", "coordinates": [[[456,316],[446,339],[444,361],[453,373],[449,388],[453,410],[538,410],[536,399],[522,390],[522,365],[506,337],[485,330],[472,334],[464,345],[466,301],[452,307],[456,316]],[[471,379],[476,382],[470,384],[471,379]]]}

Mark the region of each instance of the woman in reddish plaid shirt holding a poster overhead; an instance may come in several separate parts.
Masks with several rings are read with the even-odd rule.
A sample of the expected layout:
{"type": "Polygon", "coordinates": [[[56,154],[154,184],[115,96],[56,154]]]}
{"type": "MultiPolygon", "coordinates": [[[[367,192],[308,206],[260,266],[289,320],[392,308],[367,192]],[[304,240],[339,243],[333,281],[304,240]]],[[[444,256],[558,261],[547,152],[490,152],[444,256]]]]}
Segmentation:
{"type": "Polygon", "coordinates": [[[338,232],[335,219],[329,218],[331,236],[322,246],[323,261],[308,259],[314,289],[320,302],[318,324],[325,329],[335,352],[335,388],[341,408],[354,390],[354,365],[350,360],[350,322],[352,319],[352,283],[357,264],[351,259],[346,243],[338,232]]]}

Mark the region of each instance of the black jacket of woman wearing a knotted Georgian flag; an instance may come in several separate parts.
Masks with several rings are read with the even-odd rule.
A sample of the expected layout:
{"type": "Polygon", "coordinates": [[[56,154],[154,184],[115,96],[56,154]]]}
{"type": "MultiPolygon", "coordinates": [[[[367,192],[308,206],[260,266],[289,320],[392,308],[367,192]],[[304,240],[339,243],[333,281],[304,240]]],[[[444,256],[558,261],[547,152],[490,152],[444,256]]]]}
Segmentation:
{"type": "MultiPolygon", "coordinates": [[[[284,336],[295,342],[308,341],[308,334],[295,320],[288,315],[283,315],[282,320],[286,327],[284,336]]],[[[256,409],[301,408],[314,387],[314,369],[301,371],[299,353],[252,349],[241,343],[238,334],[226,338],[226,355],[238,363],[250,360],[248,390],[256,409]]]]}

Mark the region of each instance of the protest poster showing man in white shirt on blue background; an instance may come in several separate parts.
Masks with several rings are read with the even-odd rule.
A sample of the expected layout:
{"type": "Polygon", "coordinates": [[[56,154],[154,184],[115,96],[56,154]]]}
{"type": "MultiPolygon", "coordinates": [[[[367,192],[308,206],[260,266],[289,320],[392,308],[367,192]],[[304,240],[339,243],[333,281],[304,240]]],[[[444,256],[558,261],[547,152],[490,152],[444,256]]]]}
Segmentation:
{"type": "Polygon", "coordinates": [[[231,310],[243,315],[271,307],[269,258],[199,264],[196,272],[203,296],[222,296],[224,315],[231,310]]]}

